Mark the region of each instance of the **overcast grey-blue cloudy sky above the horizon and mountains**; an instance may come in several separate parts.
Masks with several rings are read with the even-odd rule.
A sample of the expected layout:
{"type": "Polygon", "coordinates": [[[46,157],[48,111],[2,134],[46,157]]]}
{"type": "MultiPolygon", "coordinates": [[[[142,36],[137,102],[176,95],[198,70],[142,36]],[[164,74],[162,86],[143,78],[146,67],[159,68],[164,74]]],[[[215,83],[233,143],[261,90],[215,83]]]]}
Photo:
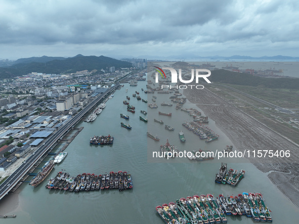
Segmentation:
{"type": "Polygon", "coordinates": [[[296,0],[0,0],[0,59],[297,57],[298,30],[296,0]]]}

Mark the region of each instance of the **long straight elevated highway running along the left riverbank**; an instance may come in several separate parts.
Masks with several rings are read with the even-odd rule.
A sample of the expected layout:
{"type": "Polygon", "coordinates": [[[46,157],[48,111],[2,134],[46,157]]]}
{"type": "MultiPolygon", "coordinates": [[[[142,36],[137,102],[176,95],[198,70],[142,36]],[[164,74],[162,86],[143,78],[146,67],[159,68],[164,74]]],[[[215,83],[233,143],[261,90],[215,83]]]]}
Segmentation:
{"type": "Polygon", "coordinates": [[[94,106],[96,106],[104,97],[111,94],[117,87],[119,82],[109,88],[105,93],[101,94],[94,101],[87,105],[86,108],[82,109],[74,117],[69,119],[56,130],[53,135],[47,139],[28,159],[26,159],[20,167],[18,167],[14,173],[12,173],[1,185],[0,185],[0,200],[8,194],[8,192],[21,180],[21,178],[32,168],[32,166],[49,150],[51,147],[62,138],[70,128],[76,125],[81,118],[86,115],[94,106]]]}

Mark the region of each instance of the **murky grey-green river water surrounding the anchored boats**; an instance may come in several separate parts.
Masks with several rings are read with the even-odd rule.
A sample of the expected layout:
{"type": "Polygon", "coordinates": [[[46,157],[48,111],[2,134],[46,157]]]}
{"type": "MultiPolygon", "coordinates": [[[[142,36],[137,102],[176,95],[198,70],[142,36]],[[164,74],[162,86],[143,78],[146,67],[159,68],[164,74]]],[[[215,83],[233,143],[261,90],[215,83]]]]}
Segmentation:
{"type": "MultiPolygon", "coordinates": [[[[267,173],[263,173],[246,159],[213,159],[210,161],[190,161],[188,158],[152,158],[153,151],[159,151],[160,145],[165,145],[168,139],[170,145],[178,147],[179,151],[223,150],[232,145],[230,140],[209,120],[208,126],[220,135],[219,139],[210,143],[200,140],[193,132],[182,126],[184,121],[191,121],[191,117],[181,110],[160,106],[160,103],[171,103],[170,94],[155,94],[157,109],[150,109],[147,103],[137,101],[132,97],[138,91],[143,99],[151,101],[153,94],[145,94],[146,81],[139,81],[137,86],[124,84],[114,93],[114,97],[106,103],[106,108],[93,122],[80,122],[77,127],[84,127],[76,138],[66,148],[67,157],[48,176],[54,177],[58,171],[65,170],[72,176],[84,172],[95,175],[110,171],[127,171],[132,175],[133,190],[119,192],[118,190],[103,190],[93,192],[79,192],[78,194],[48,190],[47,181],[33,188],[23,183],[17,192],[8,195],[4,202],[15,200],[16,208],[9,213],[16,218],[7,219],[6,223],[164,223],[155,210],[157,205],[175,202],[177,199],[195,194],[219,194],[237,196],[242,192],[262,193],[265,203],[271,209],[273,223],[297,223],[298,209],[287,199],[281,191],[269,180],[267,173]],[[125,92],[128,88],[129,91],[125,92]],[[126,111],[122,102],[125,96],[130,96],[130,105],[136,107],[136,113],[126,111]],[[140,110],[148,111],[147,115],[140,110]],[[172,116],[158,115],[158,111],[171,112],[172,116]],[[120,113],[129,115],[130,119],[120,117],[120,113]],[[148,122],[139,119],[148,118],[148,122]],[[154,122],[153,118],[163,120],[164,124],[154,122]],[[130,124],[132,129],[126,129],[120,122],[130,124]],[[175,128],[168,131],[164,125],[175,128]],[[179,131],[184,131],[185,143],[179,139],[179,131]],[[160,138],[159,142],[147,137],[147,131],[160,138]],[[93,136],[114,137],[113,145],[90,145],[93,136]],[[236,186],[215,183],[215,174],[221,162],[228,163],[228,168],[244,169],[243,180],[236,186]],[[16,195],[17,194],[17,199],[16,195]]],[[[185,108],[197,107],[190,102],[185,108]]],[[[200,109],[198,109],[200,110],[200,109]]],[[[62,145],[56,147],[59,151],[62,145]]],[[[50,160],[47,157],[46,160],[50,160]]],[[[45,160],[45,161],[46,161],[45,160]]],[[[42,164],[39,165],[39,168],[42,164]]],[[[35,170],[38,172],[38,170],[35,170]]],[[[31,177],[29,177],[31,178],[31,177]]],[[[29,179],[31,180],[31,179],[29,179]]],[[[252,218],[246,216],[227,216],[228,223],[253,223],[252,218]]]]}

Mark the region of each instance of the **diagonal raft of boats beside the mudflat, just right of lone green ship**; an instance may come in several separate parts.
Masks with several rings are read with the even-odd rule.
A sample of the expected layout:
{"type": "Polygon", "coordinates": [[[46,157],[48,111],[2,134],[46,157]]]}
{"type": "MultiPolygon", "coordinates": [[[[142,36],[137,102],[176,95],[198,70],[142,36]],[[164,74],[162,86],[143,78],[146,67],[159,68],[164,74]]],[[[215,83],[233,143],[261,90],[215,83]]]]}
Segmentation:
{"type": "Polygon", "coordinates": [[[206,139],[206,143],[214,141],[219,138],[214,131],[212,131],[209,127],[199,124],[197,122],[184,122],[182,124],[188,130],[191,130],[195,135],[199,136],[200,139],[206,139]]]}

